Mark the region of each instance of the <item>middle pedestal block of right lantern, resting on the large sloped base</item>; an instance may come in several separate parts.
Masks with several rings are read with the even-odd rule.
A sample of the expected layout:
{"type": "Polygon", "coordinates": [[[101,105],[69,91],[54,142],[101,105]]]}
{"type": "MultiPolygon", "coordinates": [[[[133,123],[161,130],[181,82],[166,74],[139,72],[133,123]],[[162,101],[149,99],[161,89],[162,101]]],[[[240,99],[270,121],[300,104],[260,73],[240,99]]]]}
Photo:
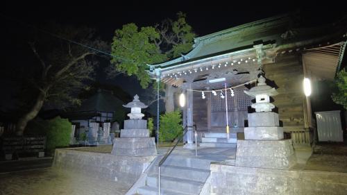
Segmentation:
{"type": "Polygon", "coordinates": [[[245,127],[244,139],[280,140],[280,139],[283,139],[283,128],[279,126],[245,127]]]}

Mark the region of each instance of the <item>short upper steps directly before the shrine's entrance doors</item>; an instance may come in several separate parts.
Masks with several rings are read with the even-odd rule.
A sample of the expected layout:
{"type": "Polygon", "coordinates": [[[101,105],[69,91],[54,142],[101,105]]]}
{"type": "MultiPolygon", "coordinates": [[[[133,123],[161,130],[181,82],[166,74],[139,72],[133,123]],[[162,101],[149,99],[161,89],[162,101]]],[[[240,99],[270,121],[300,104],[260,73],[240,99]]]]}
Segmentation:
{"type": "Polygon", "coordinates": [[[229,139],[227,133],[204,133],[204,137],[201,137],[201,147],[236,147],[237,133],[229,133],[229,139]]]}

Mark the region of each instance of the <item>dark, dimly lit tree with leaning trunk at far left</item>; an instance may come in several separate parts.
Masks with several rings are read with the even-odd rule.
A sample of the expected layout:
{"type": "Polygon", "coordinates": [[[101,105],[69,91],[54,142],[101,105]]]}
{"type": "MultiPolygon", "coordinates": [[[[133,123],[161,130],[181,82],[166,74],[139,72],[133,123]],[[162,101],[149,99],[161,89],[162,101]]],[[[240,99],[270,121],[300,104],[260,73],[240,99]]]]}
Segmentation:
{"type": "Polygon", "coordinates": [[[92,56],[98,54],[79,44],[68,42],[74,40],[98,49],[105,49],[107,44],[94,36],[90,28],[74,28],[71,26],[54,26],[52,32],[58,39],[51,35],[34,34],[33,41],[29,42],[30,49],[37,59],[31,66],[22,67],[21,76],[26,90],[24,104],[28,105],[22,117],[16,124],[16,134],[23,135],[28,121],[37,116],[44,104],[59,105],[65,108],[76,105],[81,100],[76,98],[79,90],[87,87],[85,81],[92,79],[96,60],[92,56]]]}

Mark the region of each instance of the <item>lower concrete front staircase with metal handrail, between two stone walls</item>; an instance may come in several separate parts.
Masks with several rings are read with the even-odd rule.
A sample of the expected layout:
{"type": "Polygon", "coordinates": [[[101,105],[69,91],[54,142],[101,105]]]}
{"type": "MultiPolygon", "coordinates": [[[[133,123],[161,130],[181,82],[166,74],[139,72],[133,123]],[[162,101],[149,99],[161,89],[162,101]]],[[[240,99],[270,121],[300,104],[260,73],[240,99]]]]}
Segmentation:
{"type": "MultiPolygon", "coordinates": [[[[205,180],[210,176],[210,163],[225,157],[195,157],[194,153],[182,155],[171,153],[160,167],[160,194],[192,195],[199,194],[205,180]]],[[[158,194],[158,162],[155,160],[146,177],[146,185],[137,188],[137,194],[158,194]]]]}

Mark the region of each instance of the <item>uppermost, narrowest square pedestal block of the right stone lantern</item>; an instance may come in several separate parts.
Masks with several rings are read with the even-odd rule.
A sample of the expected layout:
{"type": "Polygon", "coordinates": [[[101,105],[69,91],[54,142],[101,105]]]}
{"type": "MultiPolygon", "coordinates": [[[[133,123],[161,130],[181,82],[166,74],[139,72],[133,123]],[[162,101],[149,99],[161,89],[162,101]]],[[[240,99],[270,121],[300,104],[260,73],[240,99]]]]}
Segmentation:
{"type": "Polygon", "coordinates": [[[248,114],[248,126],[280,126],[276,112],[254,112],[248,114]]]}

